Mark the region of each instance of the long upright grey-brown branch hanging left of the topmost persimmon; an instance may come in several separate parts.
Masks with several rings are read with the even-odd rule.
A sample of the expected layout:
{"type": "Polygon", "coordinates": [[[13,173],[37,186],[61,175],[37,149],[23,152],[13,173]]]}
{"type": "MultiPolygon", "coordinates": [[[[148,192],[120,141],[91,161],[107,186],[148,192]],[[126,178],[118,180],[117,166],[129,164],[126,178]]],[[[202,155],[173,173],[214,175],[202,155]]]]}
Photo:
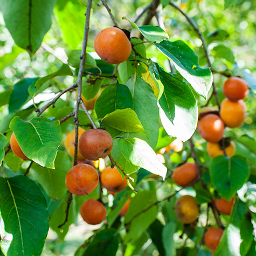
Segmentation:
{"type": "MultiPolygon", "coordinates": [[[[88,32],[89,32],[89,23],[90,23],[90,16],[91,16],[91,8],[92,8],[92,0],[87,1],[87,6],[86,6],[86,18],[85,18],[85,31],[84,31],[84,39],[82,40],[82,51],[81,51],[81,56],[80,56],[80,66],[79,66],[79,71],[78,71],[78,78],[77,82],[75,83],[78,87],[78,93],[77,93],[77,102],[75,104],[75,109],[74,109],[74,124],[75,124],[75,152],[74,152],[74,165],[77,165],[77,160],[78,160],[78,125],[79,125],[79,120],[78,120],[78,110],[79,110],[79,103],[82,101],[81,100],[81,95],[82,95],[82,75],[85,70],[85,55],[86,55],[86,47],[87,47],[87,41],[88,41],[88,32]]],[[[70,204],[72,202],[73,196],[72,193],[70,192],[67,200],[67,208],[66,208],[66,217],[64,220],[64,223],[59,225],[58,227],[62,227],[65,225],[65,223],[68,220],[68,212],[70,210],[70,204]]]]}

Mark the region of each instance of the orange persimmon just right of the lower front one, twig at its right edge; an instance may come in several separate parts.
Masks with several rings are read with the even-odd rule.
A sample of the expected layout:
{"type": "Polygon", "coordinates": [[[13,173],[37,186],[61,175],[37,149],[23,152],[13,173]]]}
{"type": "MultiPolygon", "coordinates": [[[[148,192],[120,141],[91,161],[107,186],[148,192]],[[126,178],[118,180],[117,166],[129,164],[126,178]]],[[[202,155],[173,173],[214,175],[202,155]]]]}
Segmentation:
{"type": "Polygon", "coordinates": [[[101,185],[108,191],[119,192],[126,188],[126,178],[122,178],[119,170],[116,167],[111,168],[108,166],[101,172],[100,175],[101,185]]]}

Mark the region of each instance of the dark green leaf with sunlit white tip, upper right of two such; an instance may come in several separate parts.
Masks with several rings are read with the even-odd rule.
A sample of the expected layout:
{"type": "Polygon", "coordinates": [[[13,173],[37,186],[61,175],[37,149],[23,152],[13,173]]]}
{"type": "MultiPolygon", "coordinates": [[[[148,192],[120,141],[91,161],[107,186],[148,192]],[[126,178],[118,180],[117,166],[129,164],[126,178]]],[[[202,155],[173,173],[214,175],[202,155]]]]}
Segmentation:
{"type": "Polygon", "coordinates": [[[161,41],[155,46],[172,60],[175,68],[191,84],[195,91],[207,98],[212,85],[212,73],[210,68],[202,68],[198,64],[195,52],[183,41],[161,41]]]}

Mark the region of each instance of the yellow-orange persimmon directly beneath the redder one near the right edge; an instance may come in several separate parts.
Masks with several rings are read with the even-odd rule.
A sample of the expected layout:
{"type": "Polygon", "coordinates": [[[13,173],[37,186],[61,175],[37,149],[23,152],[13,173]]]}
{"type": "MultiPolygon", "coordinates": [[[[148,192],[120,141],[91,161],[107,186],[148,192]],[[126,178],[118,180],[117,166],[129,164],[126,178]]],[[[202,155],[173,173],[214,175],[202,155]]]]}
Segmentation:
{"type": "Polygon", "coordinates": [[[225,98],[220,105],[220,116],[226,126],[236,128],[241,126],[246,117],[246,107],[243,100],[232,101],[225,98]]]}

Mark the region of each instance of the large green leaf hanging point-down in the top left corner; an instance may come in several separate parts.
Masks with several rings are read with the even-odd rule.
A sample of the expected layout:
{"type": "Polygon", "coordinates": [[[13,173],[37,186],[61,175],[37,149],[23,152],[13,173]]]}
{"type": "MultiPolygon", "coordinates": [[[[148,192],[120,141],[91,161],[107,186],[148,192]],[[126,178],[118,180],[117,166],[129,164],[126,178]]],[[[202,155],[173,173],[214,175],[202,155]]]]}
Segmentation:
{"type": "Polygon", "coordinates": [[[56,0],[2,1],[5,25],[18,46],[30,53],[36,52],[51,27],[55,3],[56,0]]]}

